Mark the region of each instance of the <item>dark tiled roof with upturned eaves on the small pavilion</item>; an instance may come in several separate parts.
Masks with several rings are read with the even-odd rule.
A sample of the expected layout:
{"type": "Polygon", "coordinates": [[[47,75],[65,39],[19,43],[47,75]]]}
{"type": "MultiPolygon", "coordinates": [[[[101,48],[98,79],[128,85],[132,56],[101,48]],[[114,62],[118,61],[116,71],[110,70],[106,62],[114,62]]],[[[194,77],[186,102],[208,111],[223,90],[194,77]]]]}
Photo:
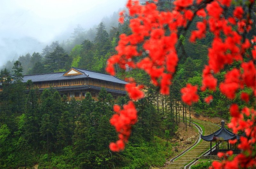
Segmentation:
{"type": "Polygon", "coordinates": [[[205,135],[205,136],[201,135],[201,138],[209,142],[209,141],[216,141],[216,140],[220,140],[220,141],[228,141],[233,139],[240,140],[240,136],[244,136],[244,134],[238,135],[238,134],[232,133],[231,131],[227,130],[224,127],[224,124],[221,121],[221,128],[219,130],[217,130],[216,132],[210,135],[205,135]]]}

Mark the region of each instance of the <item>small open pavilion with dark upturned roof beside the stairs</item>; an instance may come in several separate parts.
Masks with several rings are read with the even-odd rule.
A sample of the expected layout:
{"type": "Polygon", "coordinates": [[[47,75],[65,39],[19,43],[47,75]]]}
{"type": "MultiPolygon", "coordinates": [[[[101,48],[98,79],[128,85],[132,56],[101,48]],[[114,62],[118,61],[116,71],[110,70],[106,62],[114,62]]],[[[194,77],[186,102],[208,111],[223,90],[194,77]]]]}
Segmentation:
{"type": "MultiPolygon", "coordinates": [[[[231,131],[229,131],[228,129],[225,128],[225,121],[222,120],[221,122],[221,128],[219,130],[217,130],[216,132],[210,134],[210,135],[202,135],[201,134],[201,138],[204,141],[207,142],[211,142],[210,143],[210,154],[212,155],[212,142],[215,141],[216,142],[216,151],[214,152],[214,154],[218,153],[220,151],[219,149],[219,144],[220,142],[228,142],[228,140],[234,140],[237,139],[237,141],[240,140],[241,136],[245,136],[245,134],[234,134],[231,131]]],[[[228,142],[228,150],[231,150],[231,145],[229,145],[228,142]],[[229,148],[230,146],[230,148],[229,148]]],[[[236,144],[235,144],[235,150],[236,150],[236,144]]],[[[223,150],[222,150],[223,151],[223,150]]]]}

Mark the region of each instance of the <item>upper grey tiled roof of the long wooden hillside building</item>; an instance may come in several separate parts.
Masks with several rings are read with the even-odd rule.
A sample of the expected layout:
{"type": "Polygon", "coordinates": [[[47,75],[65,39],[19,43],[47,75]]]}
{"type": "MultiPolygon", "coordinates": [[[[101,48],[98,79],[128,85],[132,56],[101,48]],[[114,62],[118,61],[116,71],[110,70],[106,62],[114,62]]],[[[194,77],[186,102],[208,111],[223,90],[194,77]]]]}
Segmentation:
{"type": "Polygon", "coordinates": [[[123,81],[115,76],[111,76],[111,75],[104,74],[104,73],[93,72],[93,71],[80,69],[80,68],[76,68],[76,67],[73,67],[73,68],[80,71],[83,74],[73,75],[73,76],[63,76],[63,74],[66,72],[29,74],[29,75],[24,75],[23,82],[27,82],[28,80],[31,80],[33,82],[39,82],[39,81],[56,81],[56,80],[93,78],[93,79],[99,79],[99,80],[103,80],[103,81],[110,81],[110,82],[114,82],[114,83],[127,84],[126,81],[123,81]]]}

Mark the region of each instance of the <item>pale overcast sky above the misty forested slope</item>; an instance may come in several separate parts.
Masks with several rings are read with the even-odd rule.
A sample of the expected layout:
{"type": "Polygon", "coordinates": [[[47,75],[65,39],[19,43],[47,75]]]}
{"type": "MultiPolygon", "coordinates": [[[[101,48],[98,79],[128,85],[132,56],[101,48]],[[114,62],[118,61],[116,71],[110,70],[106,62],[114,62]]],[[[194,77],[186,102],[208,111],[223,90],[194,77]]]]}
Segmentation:
{"type": "MultiPolygon", "coordinates": [[[[42,48],[77,24],[88,29],[126,0],[0,0],[0,66],[42,48]]],[[[70,35],[68,35],[70,36],[70,35]]],[[[67,36],[66,36],[67,37],[67,36]]]]}

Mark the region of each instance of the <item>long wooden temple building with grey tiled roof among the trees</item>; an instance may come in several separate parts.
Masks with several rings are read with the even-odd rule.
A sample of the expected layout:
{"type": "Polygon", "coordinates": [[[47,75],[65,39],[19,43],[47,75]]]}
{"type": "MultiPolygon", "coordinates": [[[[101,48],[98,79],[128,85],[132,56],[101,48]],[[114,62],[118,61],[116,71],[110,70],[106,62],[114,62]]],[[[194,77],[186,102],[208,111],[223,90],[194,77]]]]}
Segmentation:
{"type": "Polygon", "coordinates": [[[61,96],[75,97],[78,100],[84,98],[87,92],[97,99],[102,87],[117,99],[126,95],[124,85],[128,83],[115,76],[76,67],[72,67],[67,72],[24,75],[23,82],[28,80],[31,80],[39,91],[52,87],[59,91],[61,96]]]}

